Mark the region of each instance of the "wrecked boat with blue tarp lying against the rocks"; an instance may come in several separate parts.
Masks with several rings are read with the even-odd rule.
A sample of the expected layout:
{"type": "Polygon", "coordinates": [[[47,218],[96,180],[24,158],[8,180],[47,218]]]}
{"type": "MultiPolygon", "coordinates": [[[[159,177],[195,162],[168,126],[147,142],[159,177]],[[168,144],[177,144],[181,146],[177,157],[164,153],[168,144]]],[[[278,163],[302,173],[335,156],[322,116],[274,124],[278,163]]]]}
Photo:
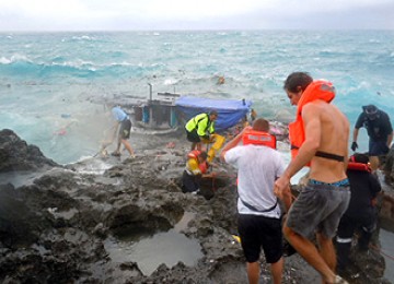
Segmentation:
{"type": "Polygon", "coordinates": [[[246,119],[252,102],[246,99],[216,99],[172,93],[158,93],[149,99],[130,99],[121,105],[130,114],[134,131],[174,132],[192,117],[217,110],[216,130],[224,131],[246,119]]]}

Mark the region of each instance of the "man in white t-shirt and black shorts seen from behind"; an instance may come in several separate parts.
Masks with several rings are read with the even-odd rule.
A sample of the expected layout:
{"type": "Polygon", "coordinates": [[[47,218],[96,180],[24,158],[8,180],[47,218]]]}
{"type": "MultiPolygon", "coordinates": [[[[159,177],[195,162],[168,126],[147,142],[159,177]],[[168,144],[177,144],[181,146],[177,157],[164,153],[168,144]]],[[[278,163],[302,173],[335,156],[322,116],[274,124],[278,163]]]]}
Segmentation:
{"type": "MultiPolygon", "coordinates": [[[[259,253],[263,248],[267,263],[270,263],[273,282],[281,283],[283,272],[281,210],[274,194],[274,182],[285,170],[285,163],[277,152],[276,142],[268,142],[269,123],[256,119],[253,123],[253,137],[260,137],[247,144],[244,135],[251,131],[246,127],[222,150],[221,158],[237,167],[237,212],[239,234],[246,258],[246,271],[250,284],[259,279],[259,253]],[[241,140],[243,145],[237,145],[241,140]],[[257,143],[267,141],[267,143],[257,143]]],[[[252,141],[252,140],[250,140],[252,141]]],[[[283,190],[283,201],[290,206],[290,189],[283,190]],[[288,192],[289,194],[286,194],[288,192]]]]}

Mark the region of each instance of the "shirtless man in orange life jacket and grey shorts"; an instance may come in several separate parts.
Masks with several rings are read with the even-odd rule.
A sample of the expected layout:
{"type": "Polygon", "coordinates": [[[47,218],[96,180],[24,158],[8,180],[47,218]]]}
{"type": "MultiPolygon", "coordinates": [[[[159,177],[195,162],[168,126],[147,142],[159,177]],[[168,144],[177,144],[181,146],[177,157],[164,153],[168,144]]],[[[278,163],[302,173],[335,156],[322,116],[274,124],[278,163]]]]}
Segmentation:
{"type": "Polygon", "coordinates": [[[350,190],[346,176],[349,122],[329,104],[335,88],[328,81],[304,72],[291,73],[283,86],[292,105],[296,121],[289,126],[292,161],[275,182],[278,197],[290,178],[310,165],[310,181],[293,202],[283,226],[285,237],[317,272],[323,283],[347,283],[335,274],[333,237],[346,211],[350,190]],[[316,234],[318,250],[312,242],[316,234]]]}

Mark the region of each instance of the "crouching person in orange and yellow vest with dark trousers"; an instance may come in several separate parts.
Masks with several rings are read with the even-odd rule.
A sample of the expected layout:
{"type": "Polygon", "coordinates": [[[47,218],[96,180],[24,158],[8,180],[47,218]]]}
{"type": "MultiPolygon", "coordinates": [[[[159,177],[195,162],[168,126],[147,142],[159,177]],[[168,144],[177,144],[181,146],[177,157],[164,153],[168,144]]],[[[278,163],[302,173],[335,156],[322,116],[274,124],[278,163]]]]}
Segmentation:
{"type": "Polygon", "coordinates": [[[193,150],[187,154],[186,168],[182,176],[182,191],[197,194],[202,175],[207,173],[207,152],[193,150]]]}

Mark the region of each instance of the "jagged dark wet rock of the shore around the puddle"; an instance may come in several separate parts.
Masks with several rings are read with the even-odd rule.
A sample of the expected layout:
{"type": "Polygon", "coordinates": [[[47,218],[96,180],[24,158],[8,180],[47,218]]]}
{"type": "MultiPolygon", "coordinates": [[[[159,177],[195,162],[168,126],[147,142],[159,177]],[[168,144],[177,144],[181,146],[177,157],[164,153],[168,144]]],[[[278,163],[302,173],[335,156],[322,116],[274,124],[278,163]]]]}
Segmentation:
{"type": "MultiPolygon", "coordinates": [[[[2,176],[0,282],[247,283],[242,249],[232,237],[236,235],[235,173],[218,162],[217,177],[204,181],[200,196],[182,193],[189,145],[181,138],[175,146],[165,146],[182,134],[149,139],[132,159],[96,157],[62,167],[12,131],[1,131],[0,152],[8,157],[0,162],[1,171],[12,168],[10,180],[15,180],[15,170],[39,174],[22,186],[2,176]],[[9,153],[10,141],[24,146],[9,153]],[[116,251],[124,256],[113,258],[108,244],[127,239],[132,247],[171,232],[185,215],[178,233],[196,240],[201,252],[193,265],[179,260],[144,274],[139,261],[132,260],[132,250],[116,251]]],[[[161,250],[150,249],[161,256],[161,250]]],[[[390,283],[382,279],[384,260],[379,253],[355,255],[354,260],[362,273],[349,279],[351,283],[390,283]]],[[[285,268],[283,283],[321,281],[298,255],[286,258],[285,268]]],[[[260,283],[271,283],[263,258],[260,283]]]]}

